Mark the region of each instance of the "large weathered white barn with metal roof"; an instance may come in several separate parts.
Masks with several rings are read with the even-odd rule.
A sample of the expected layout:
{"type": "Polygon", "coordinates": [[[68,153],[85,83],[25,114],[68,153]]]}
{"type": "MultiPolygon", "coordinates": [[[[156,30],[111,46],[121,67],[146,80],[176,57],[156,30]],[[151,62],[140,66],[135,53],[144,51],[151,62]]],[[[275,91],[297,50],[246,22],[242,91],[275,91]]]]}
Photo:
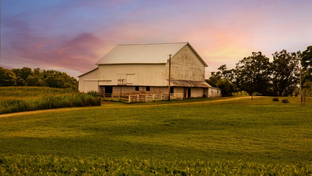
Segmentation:
{"type": "Polygon", "coordinates": [[[188,43],[117,45],[95,65],[79,75],[79,91],[137,95],[168,94],[189,97],[220,97],[221,89],[205,82],[207,64],[188,43]]]}

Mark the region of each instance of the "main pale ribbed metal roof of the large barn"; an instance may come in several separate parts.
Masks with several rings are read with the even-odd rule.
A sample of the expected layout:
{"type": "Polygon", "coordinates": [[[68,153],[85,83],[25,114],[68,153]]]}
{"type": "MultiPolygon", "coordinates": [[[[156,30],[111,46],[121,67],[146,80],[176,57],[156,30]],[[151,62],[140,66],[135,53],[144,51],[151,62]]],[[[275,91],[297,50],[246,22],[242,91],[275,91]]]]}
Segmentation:
{"type": "Polygon", "coordinates": [[[173,57],[185,45],[189,45],[198,58],[207,67],[207,64],[188,43],[163,43],[163,44],[128,44],[117,45],[96,65],[101,64],[165,64],[169,54],[173,57]]]}

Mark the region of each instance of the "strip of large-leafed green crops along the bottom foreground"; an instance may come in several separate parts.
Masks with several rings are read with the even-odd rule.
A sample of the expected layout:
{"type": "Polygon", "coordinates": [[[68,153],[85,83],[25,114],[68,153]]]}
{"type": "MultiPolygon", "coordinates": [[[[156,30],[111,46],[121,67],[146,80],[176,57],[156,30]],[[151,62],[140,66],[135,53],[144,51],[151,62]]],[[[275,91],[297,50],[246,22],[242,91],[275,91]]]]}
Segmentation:
{"type": "Polygon", "coordinates": [[[312,163],[0,155],[0,175],[312,175],[312,163]]]}

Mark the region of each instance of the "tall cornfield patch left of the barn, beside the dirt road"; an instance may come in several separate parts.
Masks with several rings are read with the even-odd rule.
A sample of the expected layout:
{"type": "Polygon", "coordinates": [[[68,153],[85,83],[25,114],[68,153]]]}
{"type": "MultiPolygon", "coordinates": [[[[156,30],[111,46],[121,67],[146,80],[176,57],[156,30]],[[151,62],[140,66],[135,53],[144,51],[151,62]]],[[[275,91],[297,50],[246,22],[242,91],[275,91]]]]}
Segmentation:
{"type": "Polygon", "coordinates": [[[100,105],[97,98],[72,89],[49,87],[0,87],[0,114],[100,105]]]}

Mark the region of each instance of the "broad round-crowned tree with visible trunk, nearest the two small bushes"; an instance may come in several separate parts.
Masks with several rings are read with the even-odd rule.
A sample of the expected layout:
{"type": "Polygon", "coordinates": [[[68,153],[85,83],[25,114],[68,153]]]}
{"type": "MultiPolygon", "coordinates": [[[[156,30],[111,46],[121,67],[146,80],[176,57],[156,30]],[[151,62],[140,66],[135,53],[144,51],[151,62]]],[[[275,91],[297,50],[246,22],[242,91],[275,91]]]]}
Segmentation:
{"type": "Polygon", "coordinates": [[[254,92],[263,91],[269,82],[269,58],[261,52],[252,52],[236,64],[236,84],[241,91],[246,91],[252,100],[254,92]]]}

